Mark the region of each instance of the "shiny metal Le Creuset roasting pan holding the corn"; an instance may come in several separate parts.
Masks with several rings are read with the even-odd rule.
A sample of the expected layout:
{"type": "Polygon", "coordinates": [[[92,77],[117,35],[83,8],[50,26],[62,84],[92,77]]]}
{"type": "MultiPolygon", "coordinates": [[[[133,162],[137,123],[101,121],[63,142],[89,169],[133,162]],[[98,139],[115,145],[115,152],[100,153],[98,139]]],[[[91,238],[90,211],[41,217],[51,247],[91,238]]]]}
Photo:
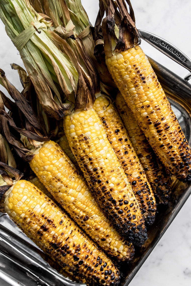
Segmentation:
{"type": "MultiPolygon", "coordinates": [[[[139,33],[142,39],[191,72],[190,59],[176,47],[151,33],[141,30],[139,33]]],[[[191,144],[191,85],[188,83],[191,74],[182,79],[153,59],[149,58],[149,61],[191,144]]],[[[158,208],[155,223],[147,228],[149,239],[142,247],[135,247],[135,257],[130,263],[120,265],[123,276],[121,286],[130,283],[191,194],[191,184],[176,179],[173,181],[173,200],[168,206],[158,208]]],[[[85,285],[74,282],[71,277],[64,277],[62,274],[58,265],[54,265],[48,256],[25,236],[7,214],[0,213],[0,277],[3,280],[12,286],[85,285]]]]}

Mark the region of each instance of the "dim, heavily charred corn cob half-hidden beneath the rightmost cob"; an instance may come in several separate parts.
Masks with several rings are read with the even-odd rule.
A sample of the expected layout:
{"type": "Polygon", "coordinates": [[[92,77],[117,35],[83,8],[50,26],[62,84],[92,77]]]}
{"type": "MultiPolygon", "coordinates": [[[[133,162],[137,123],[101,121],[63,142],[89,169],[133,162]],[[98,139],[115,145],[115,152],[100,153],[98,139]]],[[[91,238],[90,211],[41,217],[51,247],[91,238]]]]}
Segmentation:
{"type": "Polygon", "coordinates": [[[145,170],[145,174],[151,184],[151,188],[155,196],[157,196],[157,202],[163,204],[168,203],[171,194],[171,182],[168,171],[165,170],[161,165],[161,162],[156,157],[120,92],[116,96],[115,105],[121,115],[133,147],[145,170]]]}

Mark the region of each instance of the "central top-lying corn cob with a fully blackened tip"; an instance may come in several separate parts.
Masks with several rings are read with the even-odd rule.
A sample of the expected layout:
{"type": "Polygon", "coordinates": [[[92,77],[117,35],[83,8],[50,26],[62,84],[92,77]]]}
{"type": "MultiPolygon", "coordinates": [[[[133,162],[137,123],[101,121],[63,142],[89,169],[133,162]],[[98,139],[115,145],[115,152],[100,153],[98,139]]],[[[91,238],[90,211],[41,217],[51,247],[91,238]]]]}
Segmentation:
{"type": "Polygon", "coordinates": [[[71,150],[101,208],[129,242],[143,244],[147,234],[139,203],[97,113],[75,111],[63,122],[71,150]]]}

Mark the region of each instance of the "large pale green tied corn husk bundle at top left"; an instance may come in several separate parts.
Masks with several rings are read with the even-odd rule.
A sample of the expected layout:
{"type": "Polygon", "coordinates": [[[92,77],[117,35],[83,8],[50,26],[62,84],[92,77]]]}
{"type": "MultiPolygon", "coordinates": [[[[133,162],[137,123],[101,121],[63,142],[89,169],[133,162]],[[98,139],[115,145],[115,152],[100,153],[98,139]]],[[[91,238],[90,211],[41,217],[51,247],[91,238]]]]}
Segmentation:
{"type": "Polygon", "coordinates": [[[51,19],[37,13],[28,0],[1,0],[0,17],[19,50],[42,108],[59,119],[66,110],[60,94],[67,98],[77,92],[76,58],[70,46],[48,29],[51,19]],[[53,41],[61,43],[63,52],[53,41]]]}

